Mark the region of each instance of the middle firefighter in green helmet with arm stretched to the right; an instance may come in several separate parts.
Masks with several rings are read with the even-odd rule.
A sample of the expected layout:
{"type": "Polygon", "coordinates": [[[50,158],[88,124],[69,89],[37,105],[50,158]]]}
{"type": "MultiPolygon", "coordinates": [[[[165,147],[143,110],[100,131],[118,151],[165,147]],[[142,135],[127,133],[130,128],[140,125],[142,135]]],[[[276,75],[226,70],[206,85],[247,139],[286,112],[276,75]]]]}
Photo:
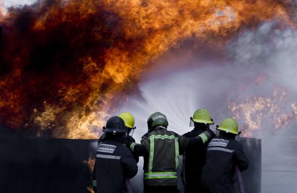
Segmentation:
{"type": "Polygon", "coordinates": [[[190,146],[202,146],[214,133],[207,130],[194,138],[180,136],[167,130],[167,118],[159,112],[149,116],[147,122],[148,133],[142,137],[141,144],[130,143],[134,154],[144,156],[144,193],[178,193],[177,168],[180,150],[190,146]]]}

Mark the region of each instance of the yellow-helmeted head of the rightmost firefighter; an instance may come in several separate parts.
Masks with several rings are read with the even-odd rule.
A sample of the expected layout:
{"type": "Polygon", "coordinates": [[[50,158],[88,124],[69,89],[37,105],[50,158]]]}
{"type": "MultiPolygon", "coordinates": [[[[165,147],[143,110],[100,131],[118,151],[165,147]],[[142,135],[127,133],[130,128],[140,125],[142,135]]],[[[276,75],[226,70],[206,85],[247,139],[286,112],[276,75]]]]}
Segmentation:
{"type": "Polygon", "coordinates": [[[219,135],[231,138],[235,138],[236,135],[240,134],[240,131],[238,131],[238,123],[233,118],[225,118],[220,126],[216,126],[216,129],[219,131],[219,135]]]}

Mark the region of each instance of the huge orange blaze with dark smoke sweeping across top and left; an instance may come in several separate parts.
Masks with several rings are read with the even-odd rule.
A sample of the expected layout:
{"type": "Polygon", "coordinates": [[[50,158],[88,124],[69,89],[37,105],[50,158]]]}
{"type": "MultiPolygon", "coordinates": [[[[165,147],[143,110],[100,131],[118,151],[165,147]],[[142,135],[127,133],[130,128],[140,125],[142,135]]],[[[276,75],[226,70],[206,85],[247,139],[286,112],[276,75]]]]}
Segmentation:
{"type": "MultiPolygon", "coordinates": [[[[97,138],[170,48],[185,40],[223,46],[270,20],[294,26],[294,2],[40,0],[7,11],[0,4],[0,124],[40,137],[97,138]]],[[[264,101],[254,105],[260,109],[270,104],[253,100],[264,101]]]]}

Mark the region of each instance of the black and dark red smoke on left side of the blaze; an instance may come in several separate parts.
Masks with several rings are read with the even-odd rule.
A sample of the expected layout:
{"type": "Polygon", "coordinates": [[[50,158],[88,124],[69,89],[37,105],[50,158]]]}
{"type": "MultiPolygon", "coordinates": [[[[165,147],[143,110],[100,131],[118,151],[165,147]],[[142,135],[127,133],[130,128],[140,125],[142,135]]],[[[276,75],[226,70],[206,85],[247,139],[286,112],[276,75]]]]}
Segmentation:
{"type": "MultiPolygon", "coordinates": [[[[39,0],[8,9],[0,44],[1,125],[19,129],[27,123],[32,127],[32,116],[43,112],[45,103],[63,108],[57,115],[60,126],[74,110],[84,108],[82,113],[89,113],[84,106],[94,89],[89,78],[102,72],[106,50],[125,41],[115,32],[120,18],[91,5],[95,4],[86,1],[65,8],[63,0],[39,0]],[[44,26],[36,27],[43,18],[47,19],[44,26]],[[91,72],[85,69],[89,58],[95,64],[91,72]],[[69,87],[74,91],[67,98],[69,87]]],[[[112,86],[111,79],[103,82],[100,95],[112,86]]]]}

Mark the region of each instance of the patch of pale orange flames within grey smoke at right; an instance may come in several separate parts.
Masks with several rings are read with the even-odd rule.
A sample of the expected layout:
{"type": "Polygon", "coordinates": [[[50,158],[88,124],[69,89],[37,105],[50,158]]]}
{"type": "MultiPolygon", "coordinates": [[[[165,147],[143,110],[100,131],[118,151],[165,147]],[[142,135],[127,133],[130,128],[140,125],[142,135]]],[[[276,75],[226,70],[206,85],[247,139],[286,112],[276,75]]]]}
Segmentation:
{"type": "Polygon", "coordinates": [[[247,98],[243,103],[229,102],[228,108],[234,118],[243,122],[242,130],[245,137],[253,135],[253,130],[264,127],[269,121],[275,129],[285,128],[290,121],[297,120],[297,104],[292,103],[292,110],[284,113],[287,104],[287,92],[283,87],[275,86],[271,97],[256,96],[247,98]]]}

